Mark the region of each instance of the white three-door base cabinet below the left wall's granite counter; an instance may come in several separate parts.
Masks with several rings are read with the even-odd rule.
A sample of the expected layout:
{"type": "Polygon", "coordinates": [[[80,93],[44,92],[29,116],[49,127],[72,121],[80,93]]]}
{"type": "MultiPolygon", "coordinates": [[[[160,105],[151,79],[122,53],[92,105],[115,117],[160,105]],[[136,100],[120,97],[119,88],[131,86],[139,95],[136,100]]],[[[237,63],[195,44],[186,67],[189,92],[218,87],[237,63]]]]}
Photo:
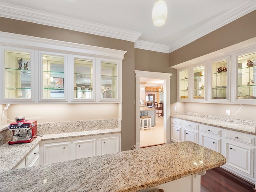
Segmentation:
{"type": "Polygon", "coordinates": [[[40,143],[40,164],[50,164],[79,158],[120,152],[120,134],[85,136],[40,143]]]}

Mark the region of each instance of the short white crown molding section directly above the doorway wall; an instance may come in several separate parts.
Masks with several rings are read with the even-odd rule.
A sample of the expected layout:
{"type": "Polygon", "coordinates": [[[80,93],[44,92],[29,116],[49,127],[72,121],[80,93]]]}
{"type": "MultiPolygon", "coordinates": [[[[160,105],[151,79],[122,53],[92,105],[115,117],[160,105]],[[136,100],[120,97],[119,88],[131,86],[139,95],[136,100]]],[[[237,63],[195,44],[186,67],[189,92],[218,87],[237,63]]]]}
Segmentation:
{"type": "Polygon", "coordinates": [[[134,47],[138,49],[145,49],[145,50],[162,52],[162,53],[170,53],[168,45],[153,43],[153,42],[148,42],[143,40],[136,40],[134,43],[134,47]]]}

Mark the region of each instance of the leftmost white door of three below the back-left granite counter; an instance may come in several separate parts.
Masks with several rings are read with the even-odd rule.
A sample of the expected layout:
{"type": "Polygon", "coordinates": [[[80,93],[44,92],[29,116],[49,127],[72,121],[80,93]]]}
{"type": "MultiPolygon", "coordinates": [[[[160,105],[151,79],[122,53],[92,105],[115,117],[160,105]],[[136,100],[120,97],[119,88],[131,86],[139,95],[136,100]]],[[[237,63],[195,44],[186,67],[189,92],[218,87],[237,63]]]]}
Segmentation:
{"type": "Polygon", "coordinates": [[[44,144],[44,164],[71,160],[71,142],[44,144]]]}

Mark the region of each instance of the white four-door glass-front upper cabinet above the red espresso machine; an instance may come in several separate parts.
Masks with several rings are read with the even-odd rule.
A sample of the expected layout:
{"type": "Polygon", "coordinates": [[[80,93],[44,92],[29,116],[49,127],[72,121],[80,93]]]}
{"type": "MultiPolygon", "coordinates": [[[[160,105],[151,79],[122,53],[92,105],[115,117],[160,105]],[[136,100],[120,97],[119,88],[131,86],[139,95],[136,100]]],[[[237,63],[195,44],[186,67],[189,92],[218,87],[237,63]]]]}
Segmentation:
{"type": "Polygon", "coordinates": [[[20,39],[16,44],[3,39],[0,103],[122,102],[125,51],[68,42],[57,47],[46,42],[41,48],[40,41],[24,45],[20,39]]]}

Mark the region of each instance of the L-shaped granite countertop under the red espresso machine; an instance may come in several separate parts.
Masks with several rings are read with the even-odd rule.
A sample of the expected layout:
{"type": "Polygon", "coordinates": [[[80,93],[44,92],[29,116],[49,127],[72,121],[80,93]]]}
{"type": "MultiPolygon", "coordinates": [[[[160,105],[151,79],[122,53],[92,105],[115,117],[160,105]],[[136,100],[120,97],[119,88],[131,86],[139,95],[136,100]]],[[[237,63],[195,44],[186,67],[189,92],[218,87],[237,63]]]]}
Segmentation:
{"type": "Polygon", "coordinates": [[[20,162],[29,154],[34,147],[40,143],[40,141],[46,140],[57,140],[66,138],[76,138],[83,136],[96,136],[102,134],[114,134],[121,133],[120,128],[115,129],[103,129],[103,130],[89,130],[80,132],[69,132],[69,133],[59,133],[59,134],[45,134],[42,137],[34,139],[30,143],[14,144],[8,145],[8,143],[2,144],[0,146],[0,171],[7,171],[16,168],[20,162]]]}

